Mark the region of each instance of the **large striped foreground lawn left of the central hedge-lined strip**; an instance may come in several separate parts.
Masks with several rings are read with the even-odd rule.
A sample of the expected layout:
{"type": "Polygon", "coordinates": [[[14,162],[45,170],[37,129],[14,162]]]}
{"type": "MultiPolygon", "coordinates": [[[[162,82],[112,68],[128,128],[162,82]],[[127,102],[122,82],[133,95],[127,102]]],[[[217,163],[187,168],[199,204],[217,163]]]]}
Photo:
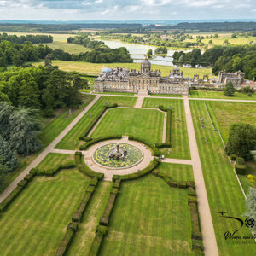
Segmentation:
{"type": "Polygon", "coordinates": [[[0,218],[1,255],[55,255],[90,182],[76,169],[34,177],[0,218]]]}

